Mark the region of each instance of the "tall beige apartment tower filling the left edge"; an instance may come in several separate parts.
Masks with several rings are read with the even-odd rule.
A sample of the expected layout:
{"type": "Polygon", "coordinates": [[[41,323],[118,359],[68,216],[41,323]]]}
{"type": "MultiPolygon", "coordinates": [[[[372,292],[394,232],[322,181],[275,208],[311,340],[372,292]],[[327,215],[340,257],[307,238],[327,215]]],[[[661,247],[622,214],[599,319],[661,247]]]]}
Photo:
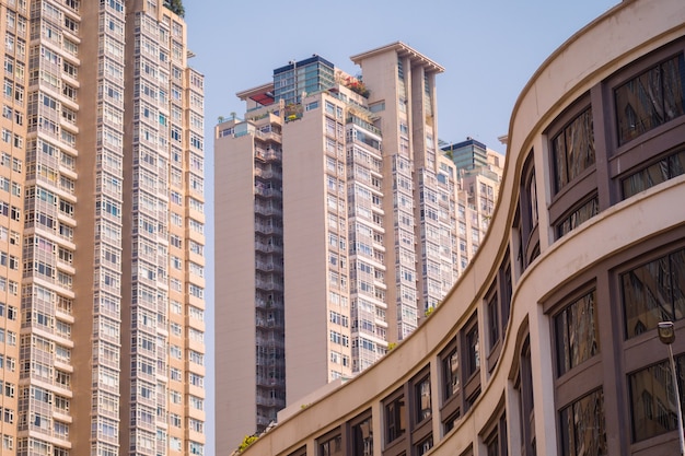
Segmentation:
{"type": "Polygon", "coordinates": [[[202,75],[162,0],[2,0],[2,454],[202,454],[202,75]]]}

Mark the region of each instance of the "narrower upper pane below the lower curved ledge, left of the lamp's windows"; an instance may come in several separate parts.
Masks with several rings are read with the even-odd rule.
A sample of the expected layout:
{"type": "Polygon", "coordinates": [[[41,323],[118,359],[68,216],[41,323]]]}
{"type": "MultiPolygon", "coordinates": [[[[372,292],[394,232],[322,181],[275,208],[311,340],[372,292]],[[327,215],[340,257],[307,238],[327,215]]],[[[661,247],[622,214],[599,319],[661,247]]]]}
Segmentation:
{"type": "Polygon", "coordinates": [[[558,375],[599,353],[596,319],[594,290],[555,316],[558,375]]]}

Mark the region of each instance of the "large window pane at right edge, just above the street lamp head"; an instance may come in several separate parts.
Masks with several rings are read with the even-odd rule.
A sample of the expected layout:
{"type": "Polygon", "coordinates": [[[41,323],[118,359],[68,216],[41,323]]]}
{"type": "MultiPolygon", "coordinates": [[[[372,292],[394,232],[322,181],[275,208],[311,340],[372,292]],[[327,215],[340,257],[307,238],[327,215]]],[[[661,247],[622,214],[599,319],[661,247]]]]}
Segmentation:
{"type": "Polygon", "coordinates": [[[626,337],[685,316],[685,248],[620,276],[626,337]]]}

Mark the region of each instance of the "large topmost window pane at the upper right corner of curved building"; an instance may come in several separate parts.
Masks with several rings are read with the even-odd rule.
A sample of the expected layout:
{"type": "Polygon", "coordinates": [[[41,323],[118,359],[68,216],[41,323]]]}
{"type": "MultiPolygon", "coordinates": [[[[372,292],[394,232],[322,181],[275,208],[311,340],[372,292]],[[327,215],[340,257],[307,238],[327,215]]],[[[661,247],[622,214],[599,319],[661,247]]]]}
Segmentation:
{"type": "Polygon", "coordinates": [[[682,116],[685,113],[683,54],[618,86],[614,96],[619,145],[682,116]]]}

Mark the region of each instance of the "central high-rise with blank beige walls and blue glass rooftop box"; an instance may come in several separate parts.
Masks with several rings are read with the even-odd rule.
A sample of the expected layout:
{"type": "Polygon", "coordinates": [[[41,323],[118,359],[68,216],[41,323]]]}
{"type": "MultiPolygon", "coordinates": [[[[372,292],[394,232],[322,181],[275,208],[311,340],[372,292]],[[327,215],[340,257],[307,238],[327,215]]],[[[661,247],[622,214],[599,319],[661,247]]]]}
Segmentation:
{"type": "Polygon", "coordinates": [[[457,277],[443,69],[402,43],[352,60],[363,79],[291,61],[216,127],[219,451],[370,366],[457,277]]]}

